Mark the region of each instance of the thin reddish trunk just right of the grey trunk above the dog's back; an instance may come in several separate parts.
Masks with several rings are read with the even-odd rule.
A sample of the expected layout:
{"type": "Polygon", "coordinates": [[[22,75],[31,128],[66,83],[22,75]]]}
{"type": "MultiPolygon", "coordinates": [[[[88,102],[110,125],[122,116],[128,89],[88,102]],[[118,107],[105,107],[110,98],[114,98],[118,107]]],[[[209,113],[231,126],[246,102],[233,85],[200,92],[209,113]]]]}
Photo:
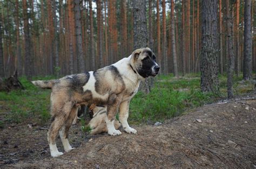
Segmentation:
{"type": "Polygon", "coordinates": [[[95,71],[96,62],[95,62],[95,40],[93,36],[93,14],[92,14],[92,0],[89,0],[89,8],[90,8],[90,33],[91,33],[91,61],[92,61],[92,69],[95,71]]]}

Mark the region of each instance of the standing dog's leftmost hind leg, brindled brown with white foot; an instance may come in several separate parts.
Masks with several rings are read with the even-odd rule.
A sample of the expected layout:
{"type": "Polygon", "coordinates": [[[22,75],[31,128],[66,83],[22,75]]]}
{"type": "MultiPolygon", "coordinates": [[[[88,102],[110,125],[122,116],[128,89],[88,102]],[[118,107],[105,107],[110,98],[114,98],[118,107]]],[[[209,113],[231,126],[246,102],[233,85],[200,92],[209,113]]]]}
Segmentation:
{"type": "MultiPolygon", "coordinates": [[[[53,105],[53,108],[54,107],[55,105],[53,105]]],[[[56,108],[58,107],[56,106],[56,108]]],[[[59,152],[57,149],[56,138],[58,136],[58,132],[60,128],[62,128],[64,123],[66,123],[66,120],[69,117],[71,108],[72,108],[72,103],[68,102],[64,104],[64,107],[61,110],[55,111],[55,108],[52,110],[53,112],[55,111],[55,113],[53,113],[54,119],[48,131],[48,142],[49,142],[50,152],[52,157],[58,157],[63,154],[62,152],[59,152]]]]}

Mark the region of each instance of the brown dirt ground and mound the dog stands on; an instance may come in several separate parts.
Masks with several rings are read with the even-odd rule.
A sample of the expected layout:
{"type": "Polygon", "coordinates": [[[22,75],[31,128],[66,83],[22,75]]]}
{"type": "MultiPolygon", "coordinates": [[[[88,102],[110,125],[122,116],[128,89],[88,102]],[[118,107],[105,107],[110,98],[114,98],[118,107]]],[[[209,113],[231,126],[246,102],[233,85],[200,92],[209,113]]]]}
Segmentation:
{"type": "Polygon", "coordinates": [[[255,168],[255,96],[205,105],[159,126],[134,126],[138,135],[85,136],[76,125],[69,137],[76,149],[58,158],[50,157],[47,130],[11,126],[1,130],[0,167],[255,168]]]}

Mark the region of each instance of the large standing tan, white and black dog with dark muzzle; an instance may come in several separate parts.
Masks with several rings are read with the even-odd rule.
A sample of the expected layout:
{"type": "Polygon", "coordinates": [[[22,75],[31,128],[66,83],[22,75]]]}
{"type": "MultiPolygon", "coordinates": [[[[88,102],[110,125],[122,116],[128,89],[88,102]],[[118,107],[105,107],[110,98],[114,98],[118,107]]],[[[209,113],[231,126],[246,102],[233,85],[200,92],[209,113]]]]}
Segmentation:
{"type": "Polygon", "coordinates": [[[68,131],[79,104],[103,104],[107,107],[105,122],[109,135],[121,134],[114,128],[118,110],[119,121],[125,132],[136,133],[127,123],[130,100],[137,93],[140,82],[149,76],[156,76],[159,69],[156,56],[150,48],[140,48],[128,58],[94,72],[68,75],[55,80],[32,81],[35,86],[52,90],[52,123],[48,131],[51,156],[63,154],[56,146],[58,133],[65,151],[73,149],[69,144],[68,131]]]}

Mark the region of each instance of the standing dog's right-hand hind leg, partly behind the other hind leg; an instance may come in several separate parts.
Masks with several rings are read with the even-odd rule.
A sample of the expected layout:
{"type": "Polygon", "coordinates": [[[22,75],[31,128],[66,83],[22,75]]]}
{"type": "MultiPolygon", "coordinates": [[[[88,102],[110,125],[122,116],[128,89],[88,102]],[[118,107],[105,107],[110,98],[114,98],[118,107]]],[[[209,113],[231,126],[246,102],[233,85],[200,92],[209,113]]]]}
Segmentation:
{"type": "Polygon", "coordinates": [[[59,130],[59,136],[60,136],[60,139],[62,140],[62,144],[65,152],[69,152],[70,150],[74,149],[69,144],[68,136],[69,136],[70,126],[72,125],[73,121],[77,116],[77,111],[78,111],[78,107],[75,106],[72,108],[66,123],[62,126],[62,129],[59,130]]]}

